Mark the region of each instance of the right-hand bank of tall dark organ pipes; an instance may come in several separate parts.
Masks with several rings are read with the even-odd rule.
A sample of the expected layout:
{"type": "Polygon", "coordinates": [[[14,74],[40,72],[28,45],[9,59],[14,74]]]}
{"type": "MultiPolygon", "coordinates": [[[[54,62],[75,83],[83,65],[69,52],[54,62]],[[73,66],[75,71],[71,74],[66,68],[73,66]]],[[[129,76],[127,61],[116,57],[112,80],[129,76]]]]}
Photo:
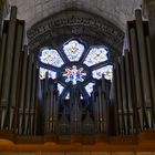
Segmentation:
{"type": "Polygon", "coordinates": [[[154,128],[154,69],[149,49],[148,22],[141,10],[127,22],[128,49],[115,64],[114,84],[118,134],[154,128]]]}

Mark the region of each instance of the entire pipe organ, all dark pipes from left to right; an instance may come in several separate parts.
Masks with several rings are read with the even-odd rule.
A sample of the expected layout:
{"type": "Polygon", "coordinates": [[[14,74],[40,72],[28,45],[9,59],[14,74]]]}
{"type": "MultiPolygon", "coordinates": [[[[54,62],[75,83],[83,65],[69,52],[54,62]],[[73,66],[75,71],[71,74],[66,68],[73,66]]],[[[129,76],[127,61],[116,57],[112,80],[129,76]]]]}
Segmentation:
{"type": "MultiPolygon", "coordinates": [[[[56,81],[39,79],[35,55],[23,45],[24,21],[17,8],[3,22],[0,51],[0,128],[16,135],[135,135],[155,128],[155,78],[148,22],[141,10],[127,22],[127,49],[117,59],[112,83],[95,82],[91,97],[59,96],[56,81]]],[[[70,136],[68,137],[70,138],[70,136]]],[[[101,136],[101,141],[106,138],[101,136]]]]}

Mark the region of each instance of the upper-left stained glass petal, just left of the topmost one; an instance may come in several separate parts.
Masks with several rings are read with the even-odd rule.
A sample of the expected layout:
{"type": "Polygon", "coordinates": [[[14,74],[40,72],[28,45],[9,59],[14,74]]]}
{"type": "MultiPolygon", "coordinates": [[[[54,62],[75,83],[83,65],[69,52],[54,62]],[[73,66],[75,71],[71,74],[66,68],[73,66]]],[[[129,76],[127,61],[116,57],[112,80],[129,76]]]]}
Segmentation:
{"type": "Polygon", "coordinates": [[[56,50],[43,50],[40,56],[41,62],[45,63],[45,64],[51,64],[58,68],[61,68],[64,62],[61,59],[60,54],[58,53],[56,50]]]}

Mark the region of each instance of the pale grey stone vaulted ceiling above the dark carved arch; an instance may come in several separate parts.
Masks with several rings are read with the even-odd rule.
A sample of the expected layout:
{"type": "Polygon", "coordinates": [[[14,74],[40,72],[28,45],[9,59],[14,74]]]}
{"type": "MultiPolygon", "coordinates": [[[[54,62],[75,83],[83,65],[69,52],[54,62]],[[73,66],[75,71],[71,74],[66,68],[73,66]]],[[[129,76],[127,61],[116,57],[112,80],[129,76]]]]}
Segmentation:
{"type": "Polygon", "coordinates": [[[142,0],[9,0],[9,3],[18,7],[18,18],[25,20],[27,29],[56,12],[79,9],[103,17],[125,31],[126,20],[133,19],[142,0]]]}

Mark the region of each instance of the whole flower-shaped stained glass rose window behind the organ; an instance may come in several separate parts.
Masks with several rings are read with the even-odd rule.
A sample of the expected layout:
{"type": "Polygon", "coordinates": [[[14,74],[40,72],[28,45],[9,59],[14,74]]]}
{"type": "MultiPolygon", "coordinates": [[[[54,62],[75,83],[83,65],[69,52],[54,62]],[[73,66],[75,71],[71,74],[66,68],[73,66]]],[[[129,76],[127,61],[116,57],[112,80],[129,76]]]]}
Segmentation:
{"type": "Polygon", "coordinates": [[[58,81],[59,94],[68,99],[71,86],[79,87],[82,96],[91,96],[95,80],[104,76],[113,78],[113,65],[108,60],[108,50],[102,45],[86,48],[80,39],[66,41],[60,51],[43,48],[39,58],[40,79],[49,78],[58,81]]]}

